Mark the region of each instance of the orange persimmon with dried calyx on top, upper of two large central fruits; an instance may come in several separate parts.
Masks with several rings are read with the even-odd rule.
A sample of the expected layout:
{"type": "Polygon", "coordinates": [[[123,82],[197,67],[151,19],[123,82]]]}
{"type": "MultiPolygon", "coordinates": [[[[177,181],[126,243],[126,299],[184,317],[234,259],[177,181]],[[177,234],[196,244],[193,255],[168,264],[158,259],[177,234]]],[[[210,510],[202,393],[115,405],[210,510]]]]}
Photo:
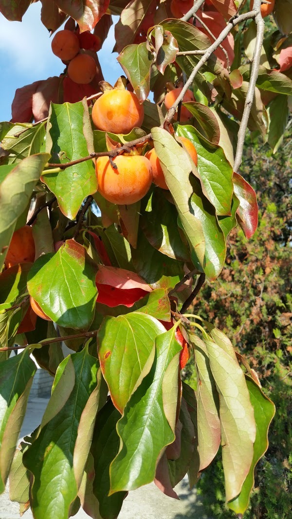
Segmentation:
{"type": "Polygon", "coordinates": [[[111,133],[130,133],[140,127],[144,118],[144,108],[137,95],[128,90],[105,91],[92,108],[92,121],[98,130],[111,133]]]}

